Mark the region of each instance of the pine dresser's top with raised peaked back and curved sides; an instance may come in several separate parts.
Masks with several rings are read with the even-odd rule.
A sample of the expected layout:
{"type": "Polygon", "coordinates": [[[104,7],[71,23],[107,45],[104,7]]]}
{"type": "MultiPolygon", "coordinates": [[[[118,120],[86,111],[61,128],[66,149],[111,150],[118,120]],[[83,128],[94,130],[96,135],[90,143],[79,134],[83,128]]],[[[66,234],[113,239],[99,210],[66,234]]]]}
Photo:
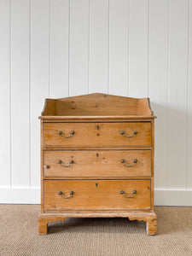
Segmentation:
{"type": "Polygon", "coordinates": [[[149,98],[93,93],[45,99],[39,119],[154,119],[149,98]]]}

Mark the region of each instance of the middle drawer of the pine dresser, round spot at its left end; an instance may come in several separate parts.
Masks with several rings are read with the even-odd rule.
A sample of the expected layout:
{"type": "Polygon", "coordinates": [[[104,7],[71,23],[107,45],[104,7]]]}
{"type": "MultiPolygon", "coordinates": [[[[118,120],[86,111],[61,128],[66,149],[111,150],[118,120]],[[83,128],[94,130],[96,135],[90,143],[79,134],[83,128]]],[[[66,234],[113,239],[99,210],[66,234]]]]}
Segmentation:
{"type": "Polygon", "coordinates": [[[150,150],[44,151],[44,177],[150,177],[150,150]]]}

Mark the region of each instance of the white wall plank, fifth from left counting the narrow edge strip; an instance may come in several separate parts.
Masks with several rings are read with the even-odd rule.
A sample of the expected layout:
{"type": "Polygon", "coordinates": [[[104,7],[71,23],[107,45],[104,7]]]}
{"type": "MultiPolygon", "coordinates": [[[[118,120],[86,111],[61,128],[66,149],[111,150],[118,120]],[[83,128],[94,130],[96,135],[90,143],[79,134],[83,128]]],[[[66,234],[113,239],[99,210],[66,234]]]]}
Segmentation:
{"type": "Polygon", "coordinates": [[[89,0],[70,1],[69,95],[88,93],[89,0]]]}

